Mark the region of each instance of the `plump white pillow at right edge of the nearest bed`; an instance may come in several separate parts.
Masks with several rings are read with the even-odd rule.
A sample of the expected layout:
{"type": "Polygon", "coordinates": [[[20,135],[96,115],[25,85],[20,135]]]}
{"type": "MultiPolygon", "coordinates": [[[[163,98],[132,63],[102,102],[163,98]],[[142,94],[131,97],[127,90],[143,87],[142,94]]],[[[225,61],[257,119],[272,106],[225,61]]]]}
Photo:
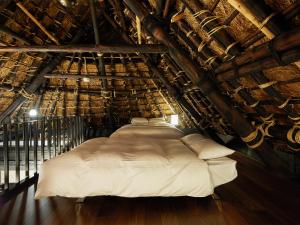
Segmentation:
{"type": "Polygon", "coordinates": [[[184,136],[181,140],[198,154],[200,159],[215,159],[234,153],[232,149],[220,145],[201,134],[190,134],[184,136]]]}

